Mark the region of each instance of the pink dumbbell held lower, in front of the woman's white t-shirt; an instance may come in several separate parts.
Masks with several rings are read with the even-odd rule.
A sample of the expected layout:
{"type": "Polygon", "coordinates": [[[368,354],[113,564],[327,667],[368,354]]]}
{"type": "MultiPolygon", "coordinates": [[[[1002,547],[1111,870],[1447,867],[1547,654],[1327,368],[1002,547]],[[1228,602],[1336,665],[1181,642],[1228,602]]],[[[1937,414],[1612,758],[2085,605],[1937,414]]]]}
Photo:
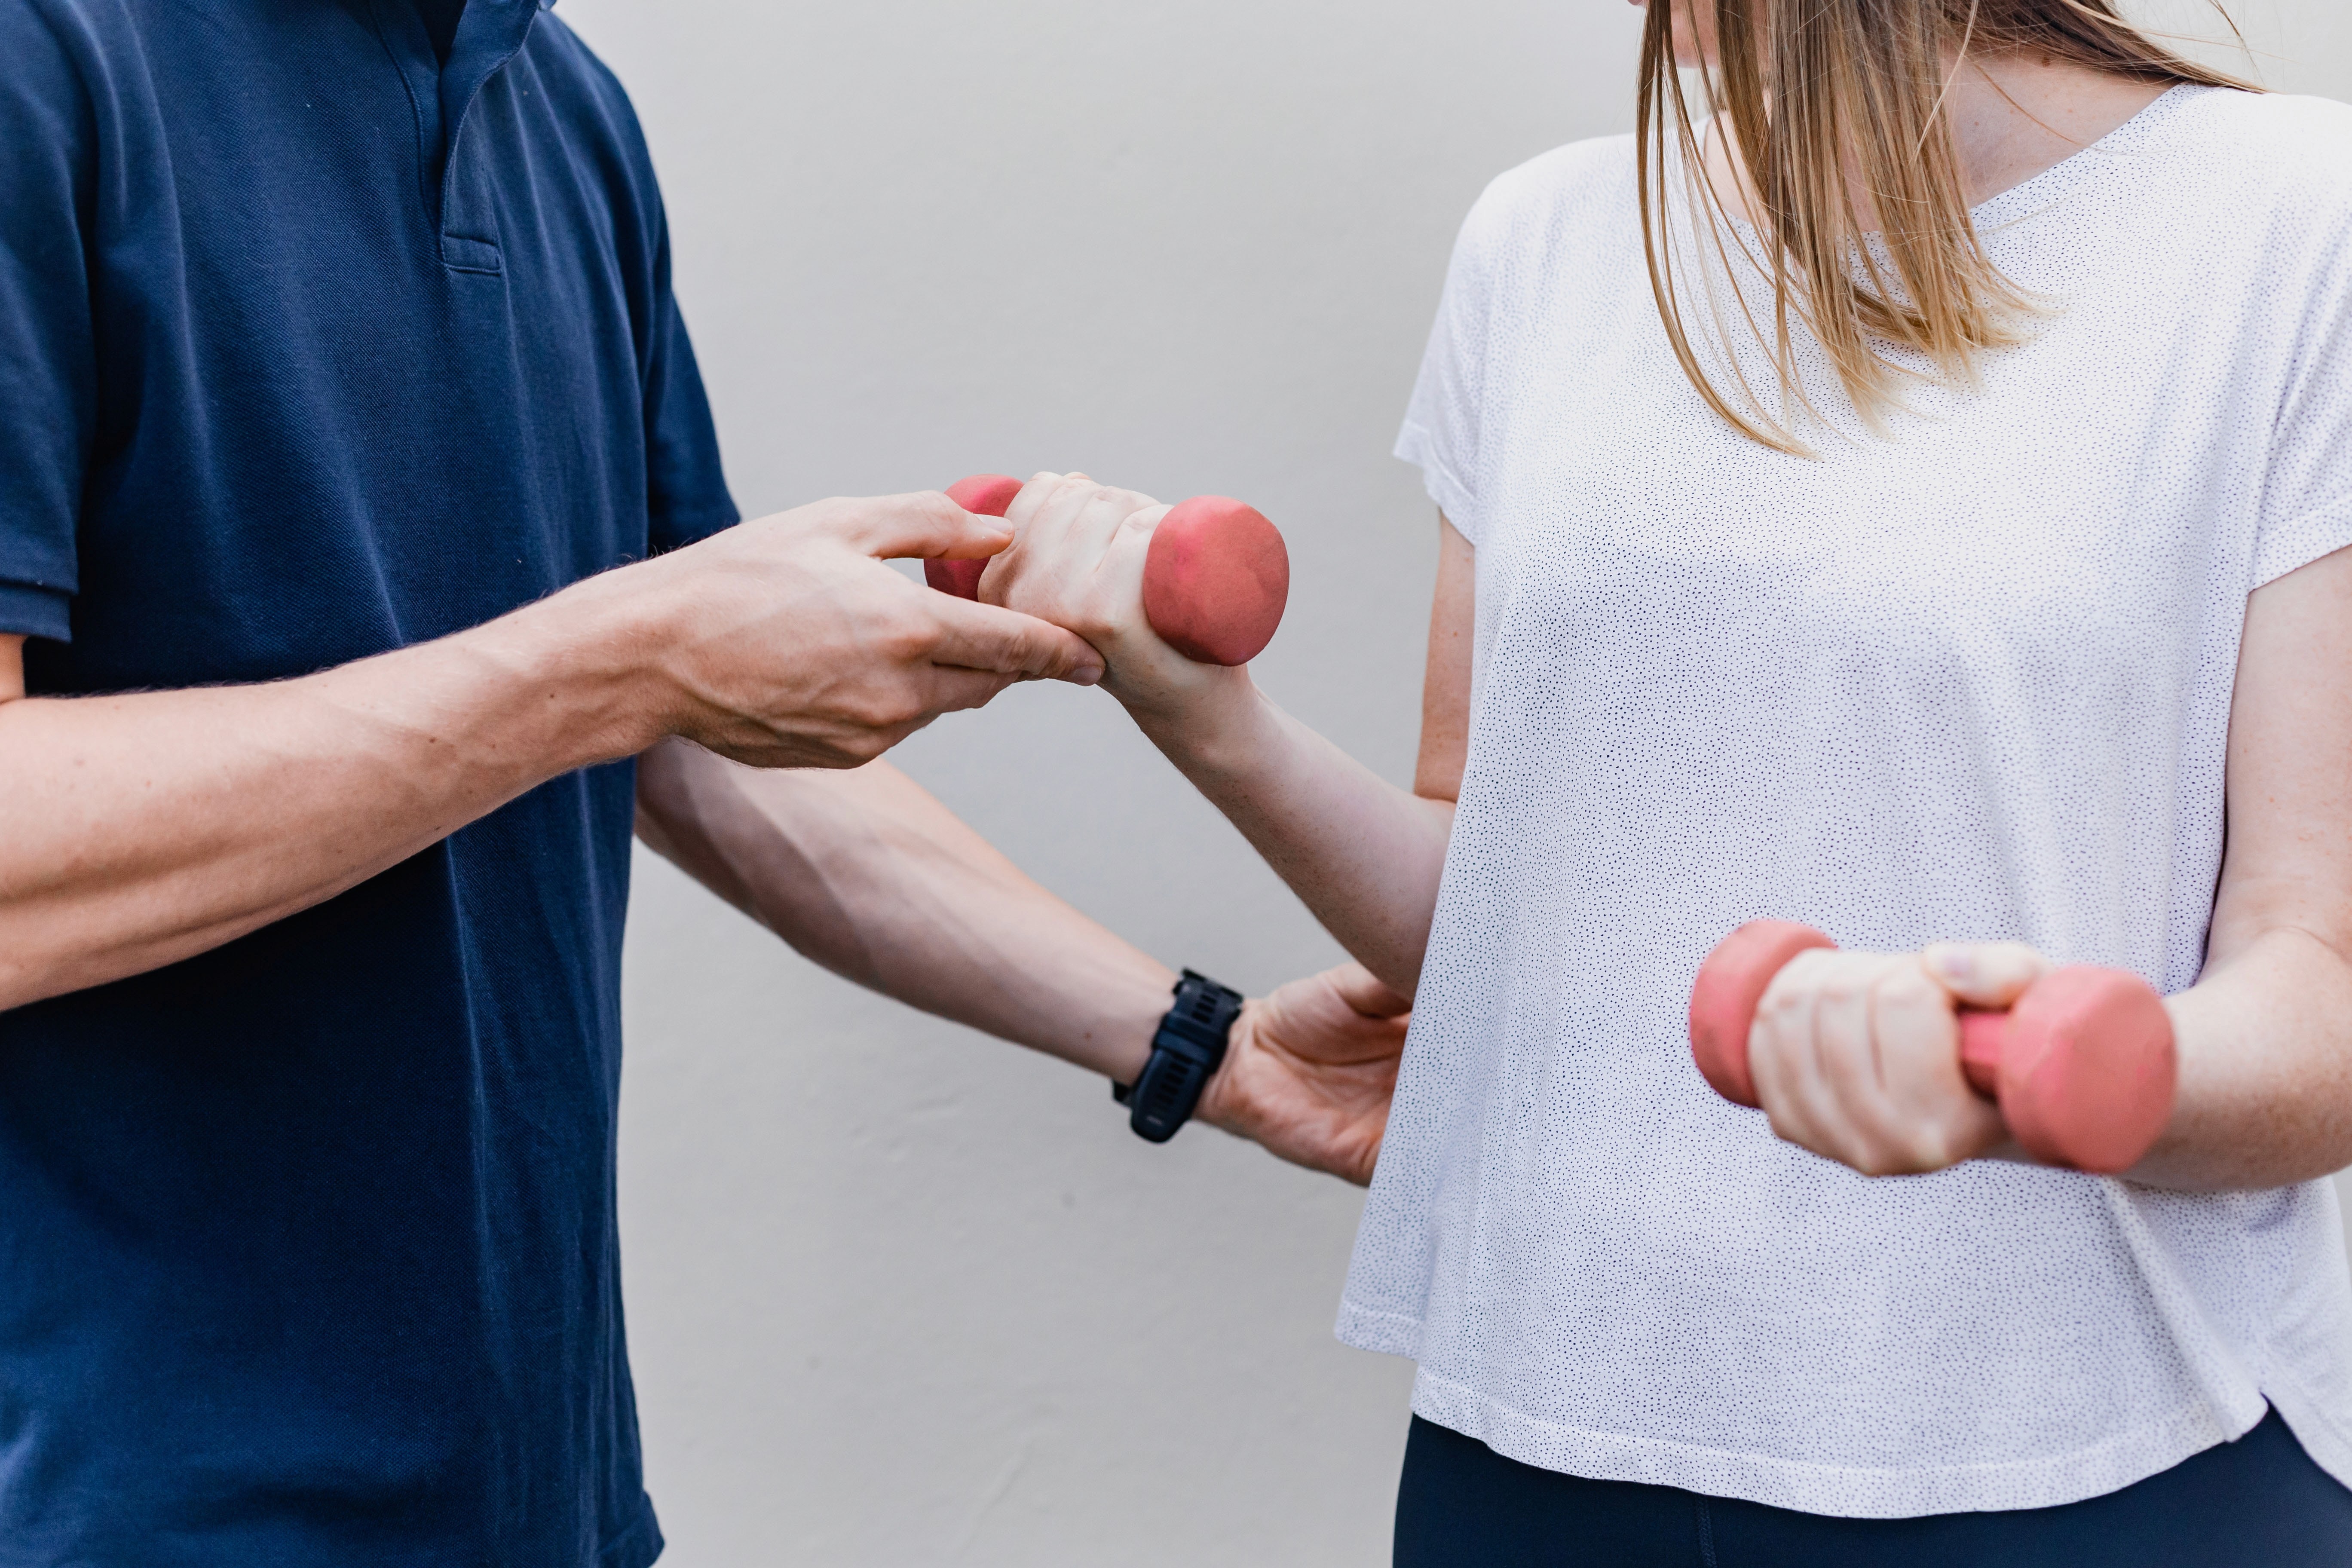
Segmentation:
{"type": "MultiPolygon", "coordinates": [[[[1755,1105],[1748,1032],[1773,976],[1837,947],[1811,926],[1757,919],[1708,954],[1691,987],[1691,1056],[1715,1093],[1755,1105]]],[[[2006,1013],[1959,1011],[1959,1067],[1999,1100],[2034,1159],[2114,1175],[2140,1164],[2173,1114],[2178,1056],[2164,999],[2119,969],[2058,969],[2006,1013]]]]}

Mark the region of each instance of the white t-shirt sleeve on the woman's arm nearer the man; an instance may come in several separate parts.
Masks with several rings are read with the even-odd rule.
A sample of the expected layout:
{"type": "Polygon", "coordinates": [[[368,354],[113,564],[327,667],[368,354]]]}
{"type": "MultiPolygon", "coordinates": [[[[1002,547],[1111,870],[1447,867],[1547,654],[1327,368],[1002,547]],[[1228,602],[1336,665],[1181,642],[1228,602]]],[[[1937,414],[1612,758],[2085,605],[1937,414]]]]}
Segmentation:
{"type": "Polygon", "coordinates": [[[1437,303],[1437,324],[1430,329],[1430,346],[1421,357],[1421,381],[1414,386],[1404,433],[1397,437],[1397,456],[1421,470],[1430,498],[1472,545],[1479,543],[1486,527],[1477,496],[1479,414],[1486,383],[1494,252],[1503,230],[1505,200],[1503,181],[1489,186],[1454,242],[1446,292],[1437,303]]]}

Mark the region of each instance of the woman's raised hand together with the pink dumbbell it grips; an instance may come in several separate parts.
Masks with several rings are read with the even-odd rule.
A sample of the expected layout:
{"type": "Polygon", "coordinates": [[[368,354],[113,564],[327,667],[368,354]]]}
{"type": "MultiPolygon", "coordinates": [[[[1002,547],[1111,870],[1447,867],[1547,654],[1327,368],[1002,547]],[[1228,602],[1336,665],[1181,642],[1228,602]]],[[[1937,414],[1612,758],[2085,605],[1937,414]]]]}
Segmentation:
{"type": "Polygon", "coordinates": [[[934,562],[936,588],[1077,632],[1108,665],[1103,686],[1138,717],[1247,689],[1235,665],[1272,635],[1289,590],[1272,524],[1232,501],[1169,508],[1087,475],[1042,473],[1011,498],[1004,487],[967,480],[948,491],[1002,515],[1014,543],[985,564],[934,562]],[[971,567],[983,567],[976,583],[971,567]]]}

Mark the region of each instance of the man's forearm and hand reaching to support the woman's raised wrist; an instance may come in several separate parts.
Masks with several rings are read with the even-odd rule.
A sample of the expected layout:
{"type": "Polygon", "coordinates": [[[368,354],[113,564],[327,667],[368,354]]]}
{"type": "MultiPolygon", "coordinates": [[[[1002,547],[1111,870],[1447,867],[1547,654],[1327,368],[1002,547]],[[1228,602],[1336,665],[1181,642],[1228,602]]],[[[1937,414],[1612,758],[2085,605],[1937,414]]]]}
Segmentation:
{"type": "Polygon", "coordinates": [[[270,686],[28,701],[7,639],[0,1011],[235,940],[666,733],[856,766],[1016,679],[1094,679],[1070,632],[877,559],[1002,543],[938,494],[818,501],[270,686]]]}

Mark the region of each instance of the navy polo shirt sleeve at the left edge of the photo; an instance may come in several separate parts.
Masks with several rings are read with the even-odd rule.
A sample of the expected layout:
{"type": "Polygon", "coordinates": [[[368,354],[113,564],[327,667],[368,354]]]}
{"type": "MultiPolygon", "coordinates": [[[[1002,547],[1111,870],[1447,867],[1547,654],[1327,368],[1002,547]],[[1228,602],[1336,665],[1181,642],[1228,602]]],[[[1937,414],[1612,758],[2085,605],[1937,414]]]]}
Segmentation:
{"type": "Polygon", "coordinates": [[[94,110],[71,12],[0,2],[0,637],[71,635],[96,430],[94,110]]]}

